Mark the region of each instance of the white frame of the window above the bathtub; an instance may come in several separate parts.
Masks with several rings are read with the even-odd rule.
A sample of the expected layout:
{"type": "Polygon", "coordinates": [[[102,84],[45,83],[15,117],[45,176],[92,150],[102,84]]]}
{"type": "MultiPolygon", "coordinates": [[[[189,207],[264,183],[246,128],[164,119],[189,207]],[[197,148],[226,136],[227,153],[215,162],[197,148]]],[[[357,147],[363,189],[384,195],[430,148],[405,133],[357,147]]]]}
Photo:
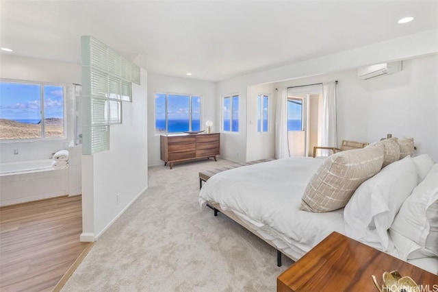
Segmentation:
{"type": "Polygon", "coordinates": [[[0,139],[1,143],[27,143],[34,141],[67,141],[68,140],[68,125],[67,125],[67,86],[63,83],[56,82],[41,82],[41,81],[31,81],[31,80],[17,80],[9,78],[0,78],[0,82],[4,83],[16,83],[16,84],[32,84],[40,86],[40,119],[41,123],[41,136],[39,138],[19,138],[19,139],[0,139]],[[44,86],[59,86],[62,87],[62,122],[64,128],[64,136],[62,137],[46,137],[45,132],[45,110],[44,110],[44,86]]]}

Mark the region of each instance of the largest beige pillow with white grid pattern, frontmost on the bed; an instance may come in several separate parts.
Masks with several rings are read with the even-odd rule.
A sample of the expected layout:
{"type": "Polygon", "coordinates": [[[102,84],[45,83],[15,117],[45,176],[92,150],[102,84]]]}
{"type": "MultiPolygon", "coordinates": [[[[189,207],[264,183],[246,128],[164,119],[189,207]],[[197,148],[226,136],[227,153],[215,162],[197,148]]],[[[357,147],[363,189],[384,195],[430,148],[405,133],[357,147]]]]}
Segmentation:
{"type": "Polygon", "coordinates": [[[343,208],[356,189],[381,170],[383,144],[341,151],[324,160],[307,184],[300,210],[329,212],[343,208]]]}

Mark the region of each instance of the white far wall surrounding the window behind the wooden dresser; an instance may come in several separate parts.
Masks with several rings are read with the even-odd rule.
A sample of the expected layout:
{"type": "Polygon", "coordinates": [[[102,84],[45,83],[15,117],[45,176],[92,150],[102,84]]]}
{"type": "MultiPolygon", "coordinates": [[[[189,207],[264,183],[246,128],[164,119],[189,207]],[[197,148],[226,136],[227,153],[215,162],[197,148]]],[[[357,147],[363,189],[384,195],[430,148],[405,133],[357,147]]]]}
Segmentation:
{"type": "MultiPolygon", "coordinates": [[[[213,121],[211,131],[219,131],[219,118],[216,110],[216,84],[190,78],[177,78],[162,75],[148,75],[148,156],[149,165],[164,165],[159,159],[159,134],[155,134],[155,93],[183,93],[202,96],[203,125],[213,121]]],[[[222,139],[222,136],[221,136],[222,139]]]]}

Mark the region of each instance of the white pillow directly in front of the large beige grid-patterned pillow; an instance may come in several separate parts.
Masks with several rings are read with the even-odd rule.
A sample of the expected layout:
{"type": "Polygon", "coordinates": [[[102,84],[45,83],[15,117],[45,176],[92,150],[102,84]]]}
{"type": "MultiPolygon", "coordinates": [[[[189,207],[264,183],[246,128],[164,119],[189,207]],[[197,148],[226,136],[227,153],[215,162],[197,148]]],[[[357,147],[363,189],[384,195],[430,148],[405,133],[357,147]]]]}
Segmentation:
{"type": "Polygon", "coordinates": [[[344,209],[346,235],[388,250],[388,229],[417,182],[417,169],[410,156],[363,182],[344,209]]]}

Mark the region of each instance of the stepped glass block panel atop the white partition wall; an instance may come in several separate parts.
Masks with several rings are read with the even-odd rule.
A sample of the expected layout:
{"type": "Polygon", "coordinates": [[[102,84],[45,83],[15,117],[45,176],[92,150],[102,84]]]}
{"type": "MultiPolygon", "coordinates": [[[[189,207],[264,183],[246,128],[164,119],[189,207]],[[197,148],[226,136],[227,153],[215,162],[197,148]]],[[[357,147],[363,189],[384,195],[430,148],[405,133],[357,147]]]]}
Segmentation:
{"type": "Polygon", "coordinates": [[[81,37],[82,152],[110,149],[110,125],[122,123],[122,101],[132,102],[140,67],[92,36],[81,37]]]}

